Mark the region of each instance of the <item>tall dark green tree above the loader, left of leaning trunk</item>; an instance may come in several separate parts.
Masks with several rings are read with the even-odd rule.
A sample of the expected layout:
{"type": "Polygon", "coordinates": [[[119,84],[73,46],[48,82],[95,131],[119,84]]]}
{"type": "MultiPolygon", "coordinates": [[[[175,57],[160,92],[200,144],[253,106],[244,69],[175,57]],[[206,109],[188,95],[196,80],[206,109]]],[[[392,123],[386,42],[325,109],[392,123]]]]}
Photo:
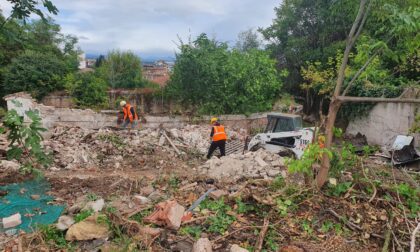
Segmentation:
{"type": "Polygon", "coordinates": [[[289,72],[286,91],[300,94],[300,71],[306,62],[325,63],[343,48],[356,4],[353,0],[284,0],[275,8],[273,24],[260,31],[279,68],[289,72]]]}

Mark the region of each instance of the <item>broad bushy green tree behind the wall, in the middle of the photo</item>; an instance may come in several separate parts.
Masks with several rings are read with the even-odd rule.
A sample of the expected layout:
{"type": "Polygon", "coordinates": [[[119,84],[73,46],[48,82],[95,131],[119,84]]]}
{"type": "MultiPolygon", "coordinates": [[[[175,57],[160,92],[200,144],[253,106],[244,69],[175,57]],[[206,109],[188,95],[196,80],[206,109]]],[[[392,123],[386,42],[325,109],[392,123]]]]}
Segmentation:
{"type": "Polygon", "coordinates": [[[252,113],[270,110],[281,83],[275,61],[264,51],[229,50],[201,34],[181,41],[166,94],[200,113],[252,113]]]}

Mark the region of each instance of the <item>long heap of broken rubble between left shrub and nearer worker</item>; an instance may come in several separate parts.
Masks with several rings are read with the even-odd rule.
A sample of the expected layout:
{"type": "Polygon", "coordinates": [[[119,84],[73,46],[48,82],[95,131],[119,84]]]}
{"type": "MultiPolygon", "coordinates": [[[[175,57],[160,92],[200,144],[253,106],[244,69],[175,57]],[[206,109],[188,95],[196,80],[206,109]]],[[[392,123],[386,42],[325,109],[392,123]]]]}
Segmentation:
{"type": "MultiPolygon", "coordinates": [[[[109,128],[87,130],[55,127],[43,145],[54,154],[51,170],[95,167],[119,169],[136,165],[159,168],[187,153],[204,155],[210,145],[209,132],[209,127],[200,125],[187,125],[168,131],[142,129],[131,132],[109,128]],[[145,162],[145,156],[153,159],[153,162],[145,162]]],[[[245,133],[245,130],[231,131],[228,135],[232,140],[243,141],[245,133]]]]}

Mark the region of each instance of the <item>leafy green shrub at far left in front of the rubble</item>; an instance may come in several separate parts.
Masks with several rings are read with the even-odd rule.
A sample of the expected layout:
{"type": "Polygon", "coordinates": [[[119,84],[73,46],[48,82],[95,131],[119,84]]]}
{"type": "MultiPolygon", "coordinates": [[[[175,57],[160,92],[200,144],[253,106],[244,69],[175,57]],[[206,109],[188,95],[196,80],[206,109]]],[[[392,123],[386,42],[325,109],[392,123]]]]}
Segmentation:
{"type": "Polygon", "coordinates": [[[38,111],[29,110],[25,115],[31,121],[29,125],[24,124],[23,117],[14,109],[6,114],[3,124],[8,130],[7,138],[10,141],[7,158],[22,163],[23,173],[38,172],[39,168],[47,167],[51,162],[51,158],[41,146],[41,132],[46,129],[42,127],[38,111]]]}

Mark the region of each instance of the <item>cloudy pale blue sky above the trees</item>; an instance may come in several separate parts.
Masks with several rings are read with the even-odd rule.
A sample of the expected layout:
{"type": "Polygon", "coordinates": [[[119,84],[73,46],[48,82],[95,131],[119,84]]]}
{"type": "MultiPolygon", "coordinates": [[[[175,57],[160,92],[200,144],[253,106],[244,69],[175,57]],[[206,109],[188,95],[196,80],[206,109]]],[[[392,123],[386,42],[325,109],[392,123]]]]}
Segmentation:
{"type": "MultiPolygon", "coordinates": [[[[79,38],[87,54],[113,49],[143,57],[171,57],[178,37],[205,32],[234,44],[239,32],[267,27],[281,0],[53,0],[53,16],[65,34],[79,38]]],[[[10,4],[0,0],[4,14],[10,4]]]]}

